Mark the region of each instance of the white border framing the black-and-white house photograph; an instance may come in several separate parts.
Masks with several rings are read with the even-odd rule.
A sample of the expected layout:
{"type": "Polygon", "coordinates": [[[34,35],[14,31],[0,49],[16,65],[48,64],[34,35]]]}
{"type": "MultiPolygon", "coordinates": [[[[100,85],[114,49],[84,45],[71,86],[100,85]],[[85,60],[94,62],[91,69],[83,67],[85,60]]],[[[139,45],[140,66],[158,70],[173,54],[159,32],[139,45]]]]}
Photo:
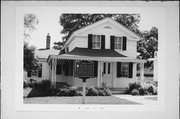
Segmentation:
{"type": "MultiPolygon", "coordinates": [[[[50,7],[48,7],[49,9],[50,7]]],[[[36,7],[16,8],[16,72],[15,72],[15,109],[16,111],[163,111],[165,108],[165,7],[51,7],[64,13],[139,13],[140,10],[158,9],[162,16],[158,28],[158,105],[72,105],[72,104],[24,104],[23,103],[23,16],[33,12],[36,7]],[[19,40],[22,39],[22,40],[19,40]],[[159,80],[161,79],[161,80],[159,80]],[[37,108],[38,107],[38,108],[37,108]]],[[[47,9],[47,7],[38,7],[47,9]]]]}

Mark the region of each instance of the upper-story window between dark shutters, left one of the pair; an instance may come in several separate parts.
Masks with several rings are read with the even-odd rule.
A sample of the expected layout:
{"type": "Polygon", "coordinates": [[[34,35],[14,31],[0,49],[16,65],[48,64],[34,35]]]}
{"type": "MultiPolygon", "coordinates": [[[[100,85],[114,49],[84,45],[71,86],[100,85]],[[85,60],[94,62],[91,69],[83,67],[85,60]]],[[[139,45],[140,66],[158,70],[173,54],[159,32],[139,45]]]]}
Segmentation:
{"type": "Polygon", "coordinates": [[[92,48],[101,49],[101,35],[92,36],[92,48]]]}

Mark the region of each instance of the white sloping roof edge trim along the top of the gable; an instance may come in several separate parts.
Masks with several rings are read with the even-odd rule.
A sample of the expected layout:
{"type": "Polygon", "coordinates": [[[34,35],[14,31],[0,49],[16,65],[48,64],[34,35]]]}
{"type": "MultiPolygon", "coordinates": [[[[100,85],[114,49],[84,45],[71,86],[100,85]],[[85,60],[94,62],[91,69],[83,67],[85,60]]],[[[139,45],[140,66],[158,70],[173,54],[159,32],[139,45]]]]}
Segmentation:
{"type": "Polygon", "coordinates": [[[81,32],[83,32],[83,31],[86,31],[86,30],[88,30],[88,29],[90,29],[90,28],[96,27],[96,26],[101,25],[101,24],[106,23],[106,22],[110,22],[110,23],[114,24],[115,26],[119,27],[119,28],[122,29],[123,31],[131,34],[133,37],[135,37],[136,39],[139,39],[139,40],[140,40],[140,37],[139,37],[137,34],[135,34],[134,32],[132,32],[131,30],[129,30],[128,28],[126,28],[125,26],[123,26],[122,24],[120,24],[119,22],[117,22],[117,21],[113,20],[112,18],[109,18],[109,17],[108,17],[108,18],[104,18],[104,19],[99,20],[99,21],[97,21],[97,22],[95,22],[95,23],[93,23],[93,24],[90,24],[90,25],[88,25],[88,26],[85,26],[85,27],[83,27],[83,28],[80,28],[80,29],[74,31],[74,32],[70,35],[70,37],[67,39],[67,42],[65,43],[65,45],[63,46],[62,49],[64,49],[64,48],[66,47],[66,45],[72,40],[72,38],[73,38],[74,36],[76,36],[78,33],[81,33],[81,32]]]}

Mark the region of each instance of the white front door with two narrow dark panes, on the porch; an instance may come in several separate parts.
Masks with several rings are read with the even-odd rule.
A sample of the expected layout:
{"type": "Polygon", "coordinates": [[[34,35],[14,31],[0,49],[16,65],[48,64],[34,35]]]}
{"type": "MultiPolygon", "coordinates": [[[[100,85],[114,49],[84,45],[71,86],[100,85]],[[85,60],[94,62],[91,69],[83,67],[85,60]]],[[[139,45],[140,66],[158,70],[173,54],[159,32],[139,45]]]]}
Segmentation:
{"type": "Polygon", "coordinates": [[[102,82],[104,82],[107,87],[112,87],[112,63],[110,62],[103,63],[102,82]]]}

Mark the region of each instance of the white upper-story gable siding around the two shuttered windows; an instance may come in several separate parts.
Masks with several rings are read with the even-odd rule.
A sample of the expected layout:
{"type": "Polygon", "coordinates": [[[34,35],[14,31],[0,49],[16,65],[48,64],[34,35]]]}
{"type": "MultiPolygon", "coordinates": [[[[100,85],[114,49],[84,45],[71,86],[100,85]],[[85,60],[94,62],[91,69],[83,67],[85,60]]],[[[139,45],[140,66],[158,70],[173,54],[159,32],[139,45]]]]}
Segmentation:
{"type": "Polygon", "coordinates": [[[73,50],[75,47],[82,47],[82,48],[88,48],[88,34],[97,34],[97,35],[105,35],[105,48],[110,49],[110,36],[126,36],[127,37],[127,50],[121,51],[116,50],[117,52],[136,58],[137,53],[137,41],[129,34],[124,32],[121,29],[118,29],[116,26],[106,23],[102,24],[100,26],[96,26],[92,29],[88,29],[84,31],[83,33],[79,33],[78,36],[74,36],[72,41],[69,43],[69,51],[73,50]],[[106,26],[109,26],[111,28],[105,28],[106,26]]]}

